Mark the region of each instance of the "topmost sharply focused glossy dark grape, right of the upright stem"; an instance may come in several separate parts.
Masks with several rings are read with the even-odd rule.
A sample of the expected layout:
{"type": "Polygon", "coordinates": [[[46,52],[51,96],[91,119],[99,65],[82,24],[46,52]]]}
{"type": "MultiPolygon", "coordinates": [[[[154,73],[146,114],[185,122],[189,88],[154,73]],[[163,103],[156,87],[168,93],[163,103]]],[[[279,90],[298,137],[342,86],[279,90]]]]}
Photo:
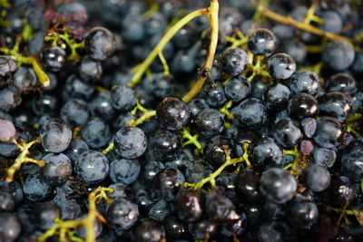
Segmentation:
{"type": "Polygon", "coordinates": [[[274,53],[278,40],[269,29],[259,28],[250,34],[247,45],[254,55],[270,56],[274,53]]]}

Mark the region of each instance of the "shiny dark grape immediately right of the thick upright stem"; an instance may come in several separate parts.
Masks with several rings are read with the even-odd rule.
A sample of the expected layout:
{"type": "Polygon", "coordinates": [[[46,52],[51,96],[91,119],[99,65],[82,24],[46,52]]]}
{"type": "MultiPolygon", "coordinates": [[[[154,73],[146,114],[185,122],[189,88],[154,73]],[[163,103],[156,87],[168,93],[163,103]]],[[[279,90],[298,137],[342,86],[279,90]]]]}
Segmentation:
{"type": "Polygon", "coordinates": [[[224,73],[239,75],[246,70],[249,57],[242,49],[230,47],[221,53],[219,63],[224,73]]]}

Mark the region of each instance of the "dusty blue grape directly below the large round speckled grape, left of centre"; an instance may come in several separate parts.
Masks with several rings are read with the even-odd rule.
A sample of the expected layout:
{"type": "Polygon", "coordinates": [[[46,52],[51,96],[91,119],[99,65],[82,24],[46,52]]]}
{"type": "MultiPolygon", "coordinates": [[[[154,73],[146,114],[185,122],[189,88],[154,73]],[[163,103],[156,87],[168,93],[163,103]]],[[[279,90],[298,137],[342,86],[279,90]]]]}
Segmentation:
{"type": "Polygon", "coordinates": [[[139,160],[117,159],[110,164],[110,178],[113,182],[132,184],[140,174],[139,160]]]}

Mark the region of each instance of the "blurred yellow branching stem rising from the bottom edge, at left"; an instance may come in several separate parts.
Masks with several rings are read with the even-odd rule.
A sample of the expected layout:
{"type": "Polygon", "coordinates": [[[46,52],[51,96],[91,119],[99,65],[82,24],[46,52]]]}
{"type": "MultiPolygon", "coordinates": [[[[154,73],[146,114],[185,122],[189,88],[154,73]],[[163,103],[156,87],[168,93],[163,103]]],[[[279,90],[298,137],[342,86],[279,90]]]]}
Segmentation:
{"type": "Polygon", "coordinates": [[[103,198],[107,203],[111,203],[113,200],[107,196],[107,193],[113,193],[113,189],[98,187],[93,190],[88,196],[88,214],[86,217],[75,220],[61,220],[60,218],[55,219],[55,224],[53,227],[49,228],[45,231],[45,233],[38,237],[41,242],[46,241],[47,238],[52,237],[56,234],[59,234],[59,241],[83,241],[80,237],[74,236],[74,231],[77,227],[84,226],[85,227],[85,241],[86,242],[94,242],[94,228],[93,223],[97,218],[102,222],[105,222],[103,216],[97,211],[96,204],[101,201],[103,198]],[[71,230],[73,229],[73,230],[71,230]],[[67,239],[67,235],[68,238],[67,239]]]}

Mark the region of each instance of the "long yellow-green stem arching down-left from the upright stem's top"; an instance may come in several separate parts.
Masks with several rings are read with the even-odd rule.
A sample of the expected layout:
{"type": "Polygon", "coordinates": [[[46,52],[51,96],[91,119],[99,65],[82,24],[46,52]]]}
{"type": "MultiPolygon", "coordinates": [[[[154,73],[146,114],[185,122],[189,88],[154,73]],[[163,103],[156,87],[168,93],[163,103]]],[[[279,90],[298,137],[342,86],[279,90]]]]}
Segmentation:
{"type": "MultiPolygon", "coordinates": [[[[212,0],[215,1],[215,0],[212,0]]],[[[185,24],[188,24],[193,18],[200,16],[200,15],[206,15],[207,9],[199,9],[194,12],[191,12],[191,14],[186,15],[183,17],[180,21],[178,21],[176,24],[174,24],[168,32],[162,37],[159,44],[157,44],[151,53],[149,53],[148,57],[138,65],[137,71],[133,74],[131,81],[128,83],[130,87],[134,87],[136,84],[138,84],[141,79],[143,73],[146,72],[146,70],[149,68],[149,66],[152,64],[152,61],[155,59],[156,56],[160,52],[162,52],[163,48],[166,44],[169,43],[169,41],[172,39],[172,37],[178,33],[178,31],[184,26],[185,24]]]]}

